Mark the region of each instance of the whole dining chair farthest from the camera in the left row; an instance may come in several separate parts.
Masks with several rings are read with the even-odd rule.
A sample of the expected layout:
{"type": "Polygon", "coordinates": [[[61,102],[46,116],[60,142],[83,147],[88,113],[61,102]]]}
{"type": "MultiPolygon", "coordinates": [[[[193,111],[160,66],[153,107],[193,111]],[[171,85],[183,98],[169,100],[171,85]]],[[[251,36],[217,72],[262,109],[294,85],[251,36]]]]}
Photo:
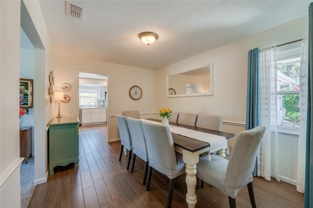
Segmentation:
{"type": "Polygon", "coordinates": [[[129,150],[128,163],[127,163],[127,170],[128,170],[129,165],[131,163],[132,151],[133,151],[131,134],[130,134],[129,129],[128,129],[126,116],[115,115],[115,118],[117,121],[119,135],[121,137],[121,152],[119,154],[118,161],[121,161],[123,149],[125,147],[126,149],[129,150]]]}

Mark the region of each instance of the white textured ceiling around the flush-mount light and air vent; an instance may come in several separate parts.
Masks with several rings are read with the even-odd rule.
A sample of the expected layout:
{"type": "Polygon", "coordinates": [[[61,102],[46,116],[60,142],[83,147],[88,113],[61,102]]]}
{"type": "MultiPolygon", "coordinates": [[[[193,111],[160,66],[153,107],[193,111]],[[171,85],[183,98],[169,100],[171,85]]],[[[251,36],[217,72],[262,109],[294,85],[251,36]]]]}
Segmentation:
{"type": "Polygon", "coordinates": [[[39,2],[57,54],[159,69],[303,17],[311,1],[70,0],[83,20],[66,16],[64,0],[39,2]],[[143,44],[145,31],[158,40],[143,44]]]}

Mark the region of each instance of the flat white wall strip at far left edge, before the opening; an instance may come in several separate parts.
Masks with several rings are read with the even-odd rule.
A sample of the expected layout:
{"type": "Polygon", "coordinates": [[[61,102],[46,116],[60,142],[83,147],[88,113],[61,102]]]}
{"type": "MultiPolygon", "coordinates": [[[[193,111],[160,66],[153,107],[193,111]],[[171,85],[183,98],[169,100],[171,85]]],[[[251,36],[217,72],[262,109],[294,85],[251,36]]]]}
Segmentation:
{"type": "Polygon", "coordinates": [[[20,202],[20,1],[0,1],[0,207],[20,202]]]}

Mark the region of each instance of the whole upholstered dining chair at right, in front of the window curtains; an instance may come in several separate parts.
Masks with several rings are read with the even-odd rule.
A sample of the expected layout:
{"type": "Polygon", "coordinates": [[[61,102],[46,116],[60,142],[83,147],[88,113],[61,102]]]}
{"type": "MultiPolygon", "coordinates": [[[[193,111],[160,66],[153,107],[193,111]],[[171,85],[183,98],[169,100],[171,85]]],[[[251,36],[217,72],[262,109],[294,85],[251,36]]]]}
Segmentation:
{"type": "Polygon", "coordinates": [[[236,208],[236,196],[245,185],[252,208],[256,208],[252,174],[264,132],[264,126],[241,132],[234,142],[229,161],[217,155],[212,155],[211,161],[206,156],[199,159],[197,178],[227,194],[230,208],[236,208]]]}

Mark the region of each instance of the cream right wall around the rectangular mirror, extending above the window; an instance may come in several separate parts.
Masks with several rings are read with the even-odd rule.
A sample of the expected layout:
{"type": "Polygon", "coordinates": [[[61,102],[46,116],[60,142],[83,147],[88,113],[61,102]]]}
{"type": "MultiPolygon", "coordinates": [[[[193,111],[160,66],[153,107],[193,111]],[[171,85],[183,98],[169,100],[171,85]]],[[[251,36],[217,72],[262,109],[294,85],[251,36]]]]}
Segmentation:
{"type": "MultiPolygon", "coordinates": [[[[156,71],[156,108],[168,107],[176,112],[223,116],[222,130],[235,133],[237,136],[238,133],[245,130],[246,123],[248,50],[255,47],[276,46],[306,36],[308,36],[307,16],[158,69],[156,71]],[[203,66],[211,62],[214,66],[213,96],[166,97],[166,75],[203,66]]],[[[228,140],[230,147],[235,138],[228,140]]],[[[286,152],[283,148],[280,148],[279,151],[282,154],[286,152]]],[[[281,158],[281,161],[283,163],[293,160],[296,156],[297,149],[293,148],[288,157],[281,158]]],[[[280,175],[294,177],[292,180],[296,180],[296,177],[290,173],[288,168],[282,167],[280,175]]]]}

